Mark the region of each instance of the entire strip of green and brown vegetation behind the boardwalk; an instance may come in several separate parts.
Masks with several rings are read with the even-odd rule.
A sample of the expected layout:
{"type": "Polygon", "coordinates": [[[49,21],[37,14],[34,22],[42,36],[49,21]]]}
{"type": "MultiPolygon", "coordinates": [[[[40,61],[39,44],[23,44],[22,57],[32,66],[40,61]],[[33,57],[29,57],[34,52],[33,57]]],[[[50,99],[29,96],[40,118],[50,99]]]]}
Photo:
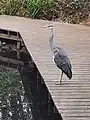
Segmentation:
{"type": "Polygon", "coordinates": [[[1,0],[0,15],[80,23],[90,13],[89,0],[1,0]]]}

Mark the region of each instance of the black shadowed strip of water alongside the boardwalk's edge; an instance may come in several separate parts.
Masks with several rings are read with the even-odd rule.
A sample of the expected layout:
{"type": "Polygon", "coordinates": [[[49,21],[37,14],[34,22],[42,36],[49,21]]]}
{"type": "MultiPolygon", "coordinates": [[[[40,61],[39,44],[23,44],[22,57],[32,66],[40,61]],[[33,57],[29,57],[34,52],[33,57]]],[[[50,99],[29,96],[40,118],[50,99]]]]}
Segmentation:
{"type": "Polygon", "coordinates": [[[22,67],[19,72],[28,101],[31,106],[34,120],[62,120],[58,112],[54,113],[55,104],[49,91],[47,90],[45,83],[40,83],[41,80],[39,79],[42,79],[43,81],[43,78],[41,77],[36,66],[34,69],[32,69],[32,67],[30,68],[28,65],[26,65],[22,67]],[[38,80],[37,75],[39,78],[38,80]]]}

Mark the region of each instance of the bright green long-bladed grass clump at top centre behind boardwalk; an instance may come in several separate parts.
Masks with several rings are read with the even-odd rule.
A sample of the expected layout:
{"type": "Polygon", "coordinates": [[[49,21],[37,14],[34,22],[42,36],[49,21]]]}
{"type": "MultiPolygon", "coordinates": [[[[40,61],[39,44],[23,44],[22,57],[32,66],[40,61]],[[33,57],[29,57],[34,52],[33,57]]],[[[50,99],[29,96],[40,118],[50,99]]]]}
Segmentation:
{"type": "Polygon", "coordinates": [[[53,0],[27,0],[28,10],[32,18],[42,18],[48,11],[53,10],[53,0]]]}

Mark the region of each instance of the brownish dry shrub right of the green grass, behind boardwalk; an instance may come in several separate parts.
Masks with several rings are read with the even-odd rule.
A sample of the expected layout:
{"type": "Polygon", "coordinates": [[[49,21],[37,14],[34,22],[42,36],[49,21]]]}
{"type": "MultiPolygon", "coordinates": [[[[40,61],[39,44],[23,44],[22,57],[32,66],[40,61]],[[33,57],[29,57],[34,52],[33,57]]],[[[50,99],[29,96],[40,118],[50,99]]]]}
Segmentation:
{"type": "Polygon", "coordinates": [[[59,6],[61,20],[69,23],[80,23],[90,14],[89,0],[62,0],[59,6]]]}

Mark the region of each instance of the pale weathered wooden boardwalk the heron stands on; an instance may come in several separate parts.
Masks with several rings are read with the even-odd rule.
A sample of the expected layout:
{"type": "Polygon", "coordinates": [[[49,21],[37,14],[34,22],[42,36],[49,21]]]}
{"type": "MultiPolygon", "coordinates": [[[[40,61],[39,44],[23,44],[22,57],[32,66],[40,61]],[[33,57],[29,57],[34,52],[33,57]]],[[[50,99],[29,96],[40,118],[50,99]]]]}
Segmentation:
{"type": "Polygon", "coordinates": [[[19,31],[63,120],[90,120],[90,28],[53,22],[55,43],[68,53],[73,67],[72,80],[63,77],[53,62],[49,47],[50,31],[41,28],[48,21],[0,16],[0,28],[19,31]]]}

